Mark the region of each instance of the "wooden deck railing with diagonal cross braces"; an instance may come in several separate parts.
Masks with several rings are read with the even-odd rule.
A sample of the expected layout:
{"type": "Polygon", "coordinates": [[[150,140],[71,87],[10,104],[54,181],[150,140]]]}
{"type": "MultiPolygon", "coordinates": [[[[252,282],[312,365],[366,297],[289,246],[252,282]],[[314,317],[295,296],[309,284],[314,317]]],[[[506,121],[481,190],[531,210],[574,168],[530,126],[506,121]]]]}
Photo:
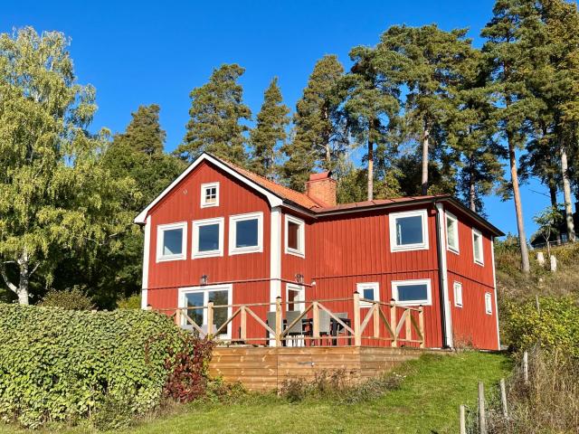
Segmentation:
{"type": "MultiPolygon", "coordinates": [[[[348,309],[350,310],[350,309],[348,309]]],[[[353,340],[355,346],[361,346],[363,341],[378,342],[385,341],[390,346],[399,346],[401,344],[418,344],[421,348],[425,346],[424,337],[424,312],[423,307],[407,307],[396,304],[394,299],[390,303],[369,300],[361,298],[359,293],[355,292],[353,297],[345,298],[327,298],[312,301],[293,301],[282,302],[278,297],[275,303],[249,303],[233,305],[214,305],[209,302],[206,306],[196,307],[178,307],[176,309],[159,309],[161,312],[173,316],[177,325],[190,325],[199,335],[207,335],[223,344],[243,343],[251,344],[261,342],[266,345],[281,346],[288,341],[303,341],[304,344],[317,344],[323,339],[331,339],[334,343],[344,341],[351,344],[353,340]],[[327,305],[330,303],[341,303],[341,306],[349,305],[353,311],[352,318],[337,316],[336,312],[330,310],[327,305]],[[289,304],[303,306],[300,315],[295,317],[289,324],[284,326],[283,307],[289,307],[289,304]],[[361,306],[364,304],[365,306],[361,306]],[[274,310],[271,309],[274,307],[274,310]],[[232,314],[219,325],[215,330],[204,330],[203,325],[195,323],[189,315],[192,310],[206,310],[204,324],[214,324],[215,309],[227,308],[232,309],[232,314]],[[270,312],[275,312],[274,325],[268,324],[267,320],[259,316],[255,311],[261,308],[270,312]],[[367,309],[367,312],[364,312],[367,309]],[[320,335],[321,311],[327,313],[330,321],[335,321],[336,325],[342,332],[341,335],[320,335]],[[235,318],[239,317],[239,337],[223,336],[228,326],[233,323],[235,318]],[[255,333],[248,333],[248,319],[252,318],[257,328],[261,330],[261,336],[255,336],[255,333]],[[311,326],[308,335],[289,335],[292,327],[299,324],[299,321],[308,318],[311,326]],[[372,324],[372,331],[369,331],[369,325],[372,324]],[[366,329],[368,330],[365,333],[366,329]],[[385,332],[385,333],[384,333],[385,332]],[[404,333],[403,333],[404,332],[404,333]],[[265,335],[268,337],[264,337],[265,335]]],[[[267,316],[267,314],[266,314],[267,316]]],[[[205,325],[206,326],[206,325],[205,325]]],[[[212,327],[213,328],[213,327],[212,327]]],[[[255,327],[253,328],[255,330],[255,327]]]]}

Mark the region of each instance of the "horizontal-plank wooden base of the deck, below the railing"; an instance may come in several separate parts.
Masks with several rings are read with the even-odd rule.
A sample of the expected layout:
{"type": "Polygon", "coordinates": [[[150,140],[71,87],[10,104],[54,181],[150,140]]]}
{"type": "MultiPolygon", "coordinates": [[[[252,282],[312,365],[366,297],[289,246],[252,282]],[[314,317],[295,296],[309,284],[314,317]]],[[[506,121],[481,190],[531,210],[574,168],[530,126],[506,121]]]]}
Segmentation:
{"type": "Polygon", "coordinates": [[[392,371],[422,354],[448,351],[371,346],[216,347],[210,373],[225,382],[242,382],[251,391],[279,389],[288,379],[313,380],[317,373],[344,370],[359,382],[392,371]]]}

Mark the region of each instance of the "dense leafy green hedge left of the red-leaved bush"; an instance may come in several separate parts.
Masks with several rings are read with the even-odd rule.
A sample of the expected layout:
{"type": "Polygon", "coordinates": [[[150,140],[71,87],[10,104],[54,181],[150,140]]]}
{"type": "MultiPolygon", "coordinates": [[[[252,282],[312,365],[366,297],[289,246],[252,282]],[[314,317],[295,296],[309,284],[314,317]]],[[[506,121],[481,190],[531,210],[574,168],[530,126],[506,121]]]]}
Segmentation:
{"type": "Polygon", "coordinates": [[[0,417],[33,428],[99,414],[111,400],[151,410],[180,333],[153,312],[0,304],[0,417]]]}

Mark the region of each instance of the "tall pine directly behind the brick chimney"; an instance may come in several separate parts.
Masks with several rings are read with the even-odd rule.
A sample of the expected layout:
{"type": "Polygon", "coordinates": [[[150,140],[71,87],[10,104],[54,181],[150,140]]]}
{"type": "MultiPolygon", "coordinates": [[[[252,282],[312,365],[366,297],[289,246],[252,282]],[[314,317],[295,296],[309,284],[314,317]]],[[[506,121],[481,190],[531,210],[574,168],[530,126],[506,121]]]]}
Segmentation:
{"type": "Polygon", "coordinates": [[[303,191],[314,167],[332,170],[347,145],[340,79],[344,68],[335,55],[314,66],[308,85],[296,105],[292,140],[281,151],[287,160],[282,177],[293,189],[303,191]]]}

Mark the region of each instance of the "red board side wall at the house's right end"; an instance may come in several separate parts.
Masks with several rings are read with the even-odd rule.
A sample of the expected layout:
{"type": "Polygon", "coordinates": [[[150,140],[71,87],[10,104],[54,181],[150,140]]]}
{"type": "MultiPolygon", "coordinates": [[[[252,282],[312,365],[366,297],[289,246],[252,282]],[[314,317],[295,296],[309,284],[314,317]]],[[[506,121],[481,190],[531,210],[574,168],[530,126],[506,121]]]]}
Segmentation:
{"type": "MultiPolygon", "coordinates": [[[[492,244],[488,231],[480,228],[458,210],[451,209],[459,220],[459,253],[447,250],[452,335],[455,344],[498,349],[497,306],[492,263],[492,244]],[[472,228],[482,233],[484,265],[474,261],[472,228]],[[462,307],[454,304],[454,282],[462,284],[462,307]],[[492,295],[492,315],[486,313],[485,293],[492,295]]],[[[446,224],[445,224],[446,227],[446,224]]]]}

